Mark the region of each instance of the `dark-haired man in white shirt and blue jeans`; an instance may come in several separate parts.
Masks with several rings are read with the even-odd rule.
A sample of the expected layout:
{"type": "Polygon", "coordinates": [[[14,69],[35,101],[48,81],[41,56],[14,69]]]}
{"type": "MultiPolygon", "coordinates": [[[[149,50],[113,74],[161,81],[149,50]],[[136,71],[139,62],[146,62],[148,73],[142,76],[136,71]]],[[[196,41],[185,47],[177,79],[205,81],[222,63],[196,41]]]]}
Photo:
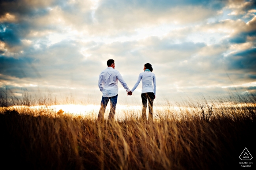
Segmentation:
{"type": "Polygon", "coordinates": [[[127,92],[131,90],[128,88],[121,74],[115,70],[115,62],[113,59],[109,59],[107,61],[108,68],[103,70],[101,74],[99,74],[99,90],[102,92],[101,99],[101,108],[99,109],[98,120],[104,120],[104,113],[106,106],[110,100],[110,112],[109,112],[109,120],[114,120],[114,114],[116,113],[116,103],[117,103],[117,95],[118,95],[118,81],[120,81],[121,85],[123,85],[124,89],[127,92]]]}

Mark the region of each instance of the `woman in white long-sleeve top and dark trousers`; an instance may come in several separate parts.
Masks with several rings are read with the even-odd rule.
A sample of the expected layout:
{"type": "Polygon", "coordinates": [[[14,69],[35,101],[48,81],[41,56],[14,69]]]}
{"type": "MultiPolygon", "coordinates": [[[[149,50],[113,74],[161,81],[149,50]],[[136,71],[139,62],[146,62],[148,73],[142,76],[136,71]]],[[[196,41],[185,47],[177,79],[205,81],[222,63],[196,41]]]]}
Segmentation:
{"type": "Polygon", "coordinates": [[[144,72],[139,74],[138,81],[132,88],[131,92],[128,92],[129,95],[132,94],[132,92],[138,87],[140,80],[142,80],[142,119],[147,120],[147,100],[148,100],[148,121],[153,121],[153,101],[155,99],[155,92],[156,92],[156,80],[155,80],[155,74],[152,73],[153,68],[150,63],[146,63],[143,68],[144,72]],[[154,83],[154,88],[152,85],[152,82],[154,83]]]}

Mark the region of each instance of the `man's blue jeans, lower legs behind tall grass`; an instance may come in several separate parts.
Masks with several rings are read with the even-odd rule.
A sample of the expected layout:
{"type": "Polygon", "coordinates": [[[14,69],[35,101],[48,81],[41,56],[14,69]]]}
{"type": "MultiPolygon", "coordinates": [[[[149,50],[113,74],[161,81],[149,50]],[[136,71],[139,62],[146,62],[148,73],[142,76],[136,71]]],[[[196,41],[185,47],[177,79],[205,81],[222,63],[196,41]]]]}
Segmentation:
{"type": "Polygon", "coordinates": [[[101,108],[99,109],[98,120],[101,120],[101,121],[104,120],[104,113],[105,113],[105,110],[106,110],[109,100],[110,100],[110,112],[109,112],[108,121],[114,120],[114,115],[116,113],[117,95],[113,96],[113,97],[103,97],[102,96],[101,108]]]}

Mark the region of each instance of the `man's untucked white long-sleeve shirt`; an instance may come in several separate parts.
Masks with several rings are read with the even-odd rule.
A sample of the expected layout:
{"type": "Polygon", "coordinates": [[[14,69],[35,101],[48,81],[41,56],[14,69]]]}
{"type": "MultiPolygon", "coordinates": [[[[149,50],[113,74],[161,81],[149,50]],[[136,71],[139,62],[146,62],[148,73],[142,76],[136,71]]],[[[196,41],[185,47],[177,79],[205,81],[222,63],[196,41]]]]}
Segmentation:
{"type": "Polygon", "coordinates": [[[113,97],[118,94],[118,81],[123,85],[124,89],[128,92],[130,89],[125,83],[121,74],[112,67],[108,67],[99,74],[99,90],[102,92],[103,97],[113,97]]]}

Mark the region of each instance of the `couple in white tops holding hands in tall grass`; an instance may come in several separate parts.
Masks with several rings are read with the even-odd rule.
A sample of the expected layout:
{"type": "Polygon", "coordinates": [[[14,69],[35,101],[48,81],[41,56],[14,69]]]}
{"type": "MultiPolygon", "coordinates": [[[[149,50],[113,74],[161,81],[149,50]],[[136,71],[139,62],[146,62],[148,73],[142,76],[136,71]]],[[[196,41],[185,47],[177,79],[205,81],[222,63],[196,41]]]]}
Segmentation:
{"type": "Polygon", "coordinates": [[[155,99],[156,94],[156,79],[155,74],[152,73],[153,68],[150,63],[146,63],[144,65],[144,72],[139,74],[138,81],[133,86],[132,90],[130,90],[125,83],[121,74],[115,70],[115,62],[113,59],[109,59],[107,61],[108,68],[103,70],[101,74],[99,74],[99,89],[102,92],[101,99],[101,108],[99,109],[98,120],[104,120],[104,113],[106,106],[110,100],[110,113],[108,116],[109,120],[114,120],[114,114],[116,112],[116,104],[117,104],[117,96],[118,96],[118,81],[123,85],[124,89],[127,91],[127,96],[132,95],[132,92],[138,87],[140,80],[142,80],[142,119],[146,120],[146,109],[147,109],[147,100],[148,100],[148,121],[153,121],[153,101],[155,99]],[[117,81],[118,80],[118,81],[117,81]],[[154,83],[154,88],[152,85],[154,83]]]}

